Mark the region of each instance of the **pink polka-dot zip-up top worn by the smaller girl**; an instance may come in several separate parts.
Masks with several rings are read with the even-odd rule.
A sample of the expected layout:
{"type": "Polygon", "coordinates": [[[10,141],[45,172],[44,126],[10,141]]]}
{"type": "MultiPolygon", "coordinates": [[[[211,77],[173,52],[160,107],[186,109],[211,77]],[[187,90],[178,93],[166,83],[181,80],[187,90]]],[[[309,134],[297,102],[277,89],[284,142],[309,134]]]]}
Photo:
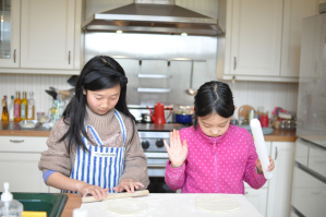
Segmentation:
{"type": "Polygon", "coordinates": [[[167,164],[166,182],[171,190],[182,193],[244,194],[244,183],[259,189],[267,181],[258,174],[258,158],[247,130],[230,125],[219,137],[209,137],[200,125],[180,130],[181,141],[186,140],[188,156],[181,167],[167,164]]]}

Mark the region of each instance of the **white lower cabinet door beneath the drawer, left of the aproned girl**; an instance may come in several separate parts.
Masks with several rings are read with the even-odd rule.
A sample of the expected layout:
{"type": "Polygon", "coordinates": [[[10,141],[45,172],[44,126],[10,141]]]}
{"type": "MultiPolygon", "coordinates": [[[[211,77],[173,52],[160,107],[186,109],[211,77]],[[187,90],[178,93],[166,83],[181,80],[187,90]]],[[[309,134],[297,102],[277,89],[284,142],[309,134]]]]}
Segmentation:
{"type": "Polygon", "coordinates": [[[9,182],[11,192],[48,193],[38,170],[39,159],[40,154],[35,153],[0,153],[0,183],[9,182]]]}

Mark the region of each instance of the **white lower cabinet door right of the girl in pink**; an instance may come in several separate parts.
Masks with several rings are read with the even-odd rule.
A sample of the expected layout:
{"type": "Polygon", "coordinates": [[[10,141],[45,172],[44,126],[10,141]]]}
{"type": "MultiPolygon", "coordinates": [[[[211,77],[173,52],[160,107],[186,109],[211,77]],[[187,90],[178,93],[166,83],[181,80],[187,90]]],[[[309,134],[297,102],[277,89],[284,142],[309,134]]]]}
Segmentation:
{"type": "Polygon", "coordinates": [[[294,143],[271,142],[271,157],[275,169],[268,183],[267,217],[288,217],[291,212],[294,143]]]}

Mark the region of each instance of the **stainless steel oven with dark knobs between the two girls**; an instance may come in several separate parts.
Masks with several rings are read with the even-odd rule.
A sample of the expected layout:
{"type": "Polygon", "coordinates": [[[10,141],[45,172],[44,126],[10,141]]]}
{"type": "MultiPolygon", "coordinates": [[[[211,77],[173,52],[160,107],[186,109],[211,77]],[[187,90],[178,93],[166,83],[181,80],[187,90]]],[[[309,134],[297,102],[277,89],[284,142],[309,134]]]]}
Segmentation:
{"type": "Polygon", "coordinates": [[[170,131],[180,130],[180,124],[137,123],[142,147],[147,157],[150,193],[176,193],[165,181],[166,165],[169,156],[164,140],[170,141],[170,131]]]}

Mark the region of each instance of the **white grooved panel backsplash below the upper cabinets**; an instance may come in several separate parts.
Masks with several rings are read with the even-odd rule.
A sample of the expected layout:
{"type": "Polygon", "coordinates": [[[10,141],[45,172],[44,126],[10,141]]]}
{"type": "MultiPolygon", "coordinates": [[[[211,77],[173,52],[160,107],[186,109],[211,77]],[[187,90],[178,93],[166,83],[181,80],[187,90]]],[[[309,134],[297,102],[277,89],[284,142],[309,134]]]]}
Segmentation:
{"type": "MultiPolygon", "coordinates": [[[[45,92],[52,86],[58,89],[72,88],[67,83],[70,75],[39,75],[39,74],[0,74],[0,97],[7,95],[15,96],[15,92],[34,92],[35,111],[47,112],[52,105],[52,98],[45,92]]],[[[234,97],[234,105],[239,108],[243,105],[250,105],[257,109],[263,106],[265,111],[270,112],[275,107],[295,111],[298,105],[298,84],[292,83],[262,83],[262,82],[227,82],[234,97]]],[[[178,94],[178,93],[176,93],[178,94]]],[[[180,93],[184,97],[184,93],[180,93]]],[[[193,99],[189,105],[192,105],[193,99]]],[[[10,104],[10,100],[8,100],[10,104]]],[[[1,108],[2,112],[2,108],[1,108]]],[[[236,110],[238,118],[238,109],[236,110]]]]}

